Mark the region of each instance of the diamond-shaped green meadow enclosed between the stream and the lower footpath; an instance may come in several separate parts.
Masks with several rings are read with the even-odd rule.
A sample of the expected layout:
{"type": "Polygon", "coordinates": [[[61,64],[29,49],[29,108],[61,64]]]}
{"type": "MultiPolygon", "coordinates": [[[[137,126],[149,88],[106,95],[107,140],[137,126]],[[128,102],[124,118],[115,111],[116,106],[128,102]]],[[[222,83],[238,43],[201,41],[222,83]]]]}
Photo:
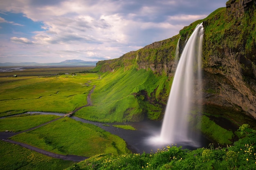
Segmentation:
{"type": "Polygon", "coordinates": [[[96,154],[124,154],[126,142],[98,126],[64,117],[50,124],[11,137],[50,152],[91,157],[96,154]]]}

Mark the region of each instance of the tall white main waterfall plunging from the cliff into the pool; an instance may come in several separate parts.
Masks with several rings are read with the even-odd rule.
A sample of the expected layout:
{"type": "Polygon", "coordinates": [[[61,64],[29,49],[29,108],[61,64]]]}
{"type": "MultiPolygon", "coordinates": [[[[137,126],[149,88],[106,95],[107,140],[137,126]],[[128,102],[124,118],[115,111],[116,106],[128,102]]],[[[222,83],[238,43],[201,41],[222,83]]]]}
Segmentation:
{"type": "MultiPolygon", "coordinates": [[[[171,92],[168,98],[164,121],[162,124],[160,142],[164,144],[189,143],[196,146],[191,137],[188,123],[188,115],[191,111],[191,100],[195,81],[201,89],[201,54],[204,28],[202,23],[193,31],[180,57],[171,92]]],[[[200,99],[198,99],[200,100],[200,99]]]]}

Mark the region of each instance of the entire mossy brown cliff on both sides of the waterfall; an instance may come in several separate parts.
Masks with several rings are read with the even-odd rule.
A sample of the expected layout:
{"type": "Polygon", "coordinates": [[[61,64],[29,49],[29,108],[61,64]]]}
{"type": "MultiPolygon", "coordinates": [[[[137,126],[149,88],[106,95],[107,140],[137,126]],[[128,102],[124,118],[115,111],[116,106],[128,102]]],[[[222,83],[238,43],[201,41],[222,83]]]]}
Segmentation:
{"type": "Polygon", "coordinates": [[[136,65],[137,69],[151,69],[155,74],[172,77],[178,40],[182,53],[195,26],[203,22],[203,104],[241,111],[256,118],[256,0],[229,0],[226,5],[184,27],[172,38],[114,60],[100,61],[97,66],[106,72],[136,65]]]}

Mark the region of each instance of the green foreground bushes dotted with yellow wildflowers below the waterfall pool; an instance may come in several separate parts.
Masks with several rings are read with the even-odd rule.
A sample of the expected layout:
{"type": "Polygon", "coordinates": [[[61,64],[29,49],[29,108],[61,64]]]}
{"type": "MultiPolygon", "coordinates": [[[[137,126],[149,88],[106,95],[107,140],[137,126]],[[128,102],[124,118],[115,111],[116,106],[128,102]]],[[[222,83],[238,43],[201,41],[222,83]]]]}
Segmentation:
{"type": "Polygon", "coordinates": [[[209,148],[184,150],[167,146],[155,153],[96,155],[74,164],[67,170],[255,170],[256,131],[244,124],[239,128],[239,139],[225,148],[209,145],[209,148]]]}

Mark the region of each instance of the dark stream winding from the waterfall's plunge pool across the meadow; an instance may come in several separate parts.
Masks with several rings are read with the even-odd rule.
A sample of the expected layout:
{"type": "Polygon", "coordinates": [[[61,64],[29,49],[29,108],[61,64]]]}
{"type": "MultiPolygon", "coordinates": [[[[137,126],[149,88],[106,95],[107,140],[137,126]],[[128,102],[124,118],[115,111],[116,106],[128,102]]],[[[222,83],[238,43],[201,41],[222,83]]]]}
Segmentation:
{"type": "MultiPolygon", "coordinates": [[[[42,114],[42,115],[58,115],[63,116],[62,113],[49,113],[49,112],[30,112],[30,114],[42,114]]],[[[166,146],[159,145],[152,145],[148,142],[148,139],[152,136],[155,136],[159,134],[161,127],[162,127],[162,121],[154,121],[154,120],[144,120],[140,122],[119,122],[119,123],[100,123],[95,121],[89,121],[85,119],[81,119],[79,117],[75,116],[68,116],[76,121],[81,121],[83,123],[88,124],[94,124],[96,126],[99,126],[103,130],[106,130],[113,135],[117,135],[124,139],[127,144],[127,148],[132,151],[132,153],[150,153],[150,152],[157,152],[157,149],[165,148],[166,146]],[[122,128],[114,127],[113,125],[130,125],[137,130],[126,130],[122,128]]],[[[169,144],[171,146],[172,144],[169,144]]],[[[175,144],[174,144],[175,145],[175,144]]],[[[186,146],[184,144],[182,145],[182,148],[188,148],[188,149],[195,149],[189,144],[186,146]]],[[[207,139],[202,138],[202,146],[200,147],[207,147],[209,145],[209,141],[207,139]]],[[[179,146],[179,144],[177,144],[179,146]]]]}

